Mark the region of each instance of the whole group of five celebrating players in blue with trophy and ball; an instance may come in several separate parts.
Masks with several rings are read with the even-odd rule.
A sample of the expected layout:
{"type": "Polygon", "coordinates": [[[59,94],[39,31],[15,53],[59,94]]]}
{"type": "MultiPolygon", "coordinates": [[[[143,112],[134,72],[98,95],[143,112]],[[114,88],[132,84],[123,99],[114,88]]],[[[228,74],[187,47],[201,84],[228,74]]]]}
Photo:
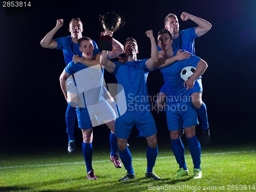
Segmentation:
{"type": "Polygon", "coordinates": [[[110,161],[114,167],[124,167],[127,171],[118,181],[136,178],[127,143],[134,127],[138,136],[145,137],[147,142],[145,178],[161,180],[153,172],[158,156],[153,110],[166,116],[171,148],[179,166],[173,179],[189,175],[181,140],[183,135],[193,159],[192,178],[202,178],[201,144],[196,135],[196,125],[200,118],[202,142],[208,144],[210,129],[206,104],[202,100],[202,75],[207,63],[196,56],[195,39],[205,35],[211,24],[187,12],[182,12],[180,19],[182,22],[190,19],[196,26],[179,30],[178,17],[169,13],[164,18],[163,29],[155,34],[156,39],[153,30],[145,31],[144,38],[151,42],[151,57],[143,59],[137,58],[139,46],[136,39],[127,37],[122,44],[113,37],[114,32],[124,25],[124,21],[114,12],[100,15],[104,31],[98,44],[82,34],[83,24],[79,17],[69,21],[69,36],[55,38],[64,23],[64,19],[58,19],[56,26],[42,38],[42,47],[63,51],[66,66],[63,66],[59,81],[67,100],[68,153],[76,153],[74,126],[77,119],[82,131],[87,179],[98,179],[92,166],[93,132],[101,129],[97,126],[106,124],[110,129],[110,161]],[[114,58],[119,60],[112,61],[114,58]],[[117,83],[105,83],[105,70],[116,77],[117,83]],[[153,70],[160,70],[164,84],[152,97],[148,95],[147,76],[153,70]]]}

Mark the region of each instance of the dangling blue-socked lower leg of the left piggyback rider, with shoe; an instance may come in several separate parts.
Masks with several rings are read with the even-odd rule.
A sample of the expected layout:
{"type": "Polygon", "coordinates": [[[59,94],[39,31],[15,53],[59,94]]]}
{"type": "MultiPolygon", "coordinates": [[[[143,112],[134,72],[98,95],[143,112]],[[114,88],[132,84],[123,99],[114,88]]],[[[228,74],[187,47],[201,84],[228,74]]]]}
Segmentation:
{"type": "Polygon", "coordinates": [[[70,154],[76,153],[75,147],[75,137],[74,137],[74,126],[76,120],[76,108],[68,103],[66,111],[66,125],[67,125],[67,134],[69,136],[68,140],[68,152],[70,154]]]}

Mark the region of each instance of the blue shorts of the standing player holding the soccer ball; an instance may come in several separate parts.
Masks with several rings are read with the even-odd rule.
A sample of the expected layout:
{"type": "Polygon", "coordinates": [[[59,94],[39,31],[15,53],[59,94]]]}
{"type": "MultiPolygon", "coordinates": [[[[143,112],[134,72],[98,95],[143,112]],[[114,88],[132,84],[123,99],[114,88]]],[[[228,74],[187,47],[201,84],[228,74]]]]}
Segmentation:
{"type": "Polygon", "coordinates": [[[169,131],[177,131],[198,123],[196,108],[192,102],[167,103],[166,116],[169,131]]]}

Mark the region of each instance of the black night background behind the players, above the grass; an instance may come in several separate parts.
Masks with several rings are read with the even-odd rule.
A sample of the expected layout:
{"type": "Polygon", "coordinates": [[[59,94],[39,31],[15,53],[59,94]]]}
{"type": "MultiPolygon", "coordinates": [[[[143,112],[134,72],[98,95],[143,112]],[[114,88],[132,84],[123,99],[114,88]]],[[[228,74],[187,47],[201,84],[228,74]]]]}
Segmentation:
{"type": "MultiPolygon", "coordinates": [[[[125,25],[114,33],[123,43],[126,37],[138,41],[138,58],[150,57],[150,40],[155,37],[168,13],[178,16],[180,30],[197,25],[180,15],[186,11],[206,19],[211,30],[196,39],[196,55],[208,63],[203,75],[203,100],[207,105],[211,128],[210,144],[255,141],[255,48],[256,2],[241,1],[31,1],[29,9],[0,8],[1,38],[1,120],[0,141],[4,145],[67,144],[66,100],[59,86],[65,68],[61,50],[45,49],[40,40],[54,28],[56,20],[65,20],[54,38],[70,35],[68,23],[80,17],[83,35],[98,42],[103,31],[98,16],[115,12],[125,25]]],[[[105,72],[107,83],[115,77],[105,72]]],[[[148,92],[156,95],[162,84],[161,73],[148,75],[148,92]]],[[[158,140],[168,141],[166,117],[153,112],[158,140]]],[[[200,126],[199,126],[200,127],[200,126]]],[[[201,127],[197,129],[200,138],[201,127]]],[[[77,125],[75,137],[81,140],[77,125]]],[[[105,125],[95,128],[94,141],[108,142],[105,125]]],[[[132,132],[130,140],[137,137],[132,132]]],[[[201,138],[200,138],[201,139],[201,138]]],[[[130,141],[132,143],[132,141],[130,141]]]]}

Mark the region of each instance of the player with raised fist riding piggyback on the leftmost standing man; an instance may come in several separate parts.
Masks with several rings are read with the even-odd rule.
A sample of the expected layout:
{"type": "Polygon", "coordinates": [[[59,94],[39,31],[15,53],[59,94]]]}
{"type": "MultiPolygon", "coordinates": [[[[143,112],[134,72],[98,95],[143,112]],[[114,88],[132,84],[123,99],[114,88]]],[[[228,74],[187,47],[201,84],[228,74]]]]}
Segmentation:
{"type": "MultiPolygon", "coordinates": [[[[63,51],[63,56],[66,62],[66,65],[72,59],[80,59],[82,53],[79,50],[78,39],[82,37],[83,25],[81,19],[79,17],[71,19],[69,23],[69,32],[70,36],[60,37],[53,39],[55,33],[63,26],[64,20],[58,19],[56,26],[41,40],[41,46],[49,49],[61,49],[63,51]]],[[[109,57],[114,58],[117,55],[121,54],[123,51],[123,47],[120,47],[120,44],[117,43],[115,39],[113,39],[113,51],[110,52],[109,57]]],[[[98,50],[97,44],[93,41],[93,56],[94,59],[99,60],[100,51],[98,50]]],[[[79,62],[84,63],[85,65],[90,65],[90,63],[97,62],[96,60],[86,60],[82,59],[79,62]]],[[[68,138],[68,152],[73,154],[76,152],[75,148],[75,138],[74,138],[74,125],[76,120],[76,109],[68,103],[67,111],[66,111],[66,124],[67,124],[67,134],[68,138]]]]}

